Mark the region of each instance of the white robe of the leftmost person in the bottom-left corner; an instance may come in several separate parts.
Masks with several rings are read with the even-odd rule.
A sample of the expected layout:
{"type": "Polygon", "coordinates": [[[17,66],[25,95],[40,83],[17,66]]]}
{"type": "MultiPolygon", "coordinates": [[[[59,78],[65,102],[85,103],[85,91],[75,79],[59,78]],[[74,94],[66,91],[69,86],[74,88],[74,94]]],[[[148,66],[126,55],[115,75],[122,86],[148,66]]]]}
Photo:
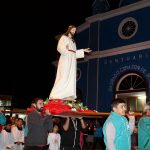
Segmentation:
{"type": "Polygon", "coordinates": [[[14,150],[14,138],[13,134],[10,132],[6,132],[5,130],[2,130],[0,132],[0,150],[14,150]]]}

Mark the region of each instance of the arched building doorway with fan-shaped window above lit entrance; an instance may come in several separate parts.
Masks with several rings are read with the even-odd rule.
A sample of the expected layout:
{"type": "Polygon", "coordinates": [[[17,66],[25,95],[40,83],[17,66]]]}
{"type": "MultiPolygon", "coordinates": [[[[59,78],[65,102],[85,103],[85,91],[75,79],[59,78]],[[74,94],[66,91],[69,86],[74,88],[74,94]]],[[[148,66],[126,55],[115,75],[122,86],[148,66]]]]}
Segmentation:
{"type": "Polygon", "coordinates": [[[124,99],[128,111],[142,112],[146,103],[146,95],[146,80],[139,73],[126,73],[117,80],[115,98],[124,99]]]}

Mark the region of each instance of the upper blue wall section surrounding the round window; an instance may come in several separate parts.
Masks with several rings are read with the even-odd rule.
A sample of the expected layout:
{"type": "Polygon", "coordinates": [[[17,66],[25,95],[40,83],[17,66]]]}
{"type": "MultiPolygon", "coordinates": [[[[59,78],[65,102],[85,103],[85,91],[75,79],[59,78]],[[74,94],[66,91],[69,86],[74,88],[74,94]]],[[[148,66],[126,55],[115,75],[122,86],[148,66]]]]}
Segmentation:
{"type": "MultiPolygon", "coordinates": [[[[100,50],[111,49],[150,40],[150,21],[147,21],[149,14],[150,7],[146,7],[144,9],[136,10],[102,21],[100,23],[99,30],[100,50]],[[132,38],[121,39],[118,35],[118,27],[121,21],[128,17],[132,17],[137,21],[138,30],[132,38]]],[[[95,39],[97,39],[97,37],[95,39]]]]}

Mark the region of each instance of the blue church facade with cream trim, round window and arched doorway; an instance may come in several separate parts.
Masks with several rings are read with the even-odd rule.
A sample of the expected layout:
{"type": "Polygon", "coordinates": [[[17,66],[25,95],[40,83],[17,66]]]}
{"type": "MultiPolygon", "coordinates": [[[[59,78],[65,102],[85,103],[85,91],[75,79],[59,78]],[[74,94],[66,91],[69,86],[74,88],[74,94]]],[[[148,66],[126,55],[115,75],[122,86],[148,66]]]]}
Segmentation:
{"type": "Polygon", "coordinates": [[[93,52],[78,61],[77,87],[90,109],[110,111],[115,97],[132,111],[150,98],[150,1],[142,0],[86,18],[78,49],[93,52]]]}

